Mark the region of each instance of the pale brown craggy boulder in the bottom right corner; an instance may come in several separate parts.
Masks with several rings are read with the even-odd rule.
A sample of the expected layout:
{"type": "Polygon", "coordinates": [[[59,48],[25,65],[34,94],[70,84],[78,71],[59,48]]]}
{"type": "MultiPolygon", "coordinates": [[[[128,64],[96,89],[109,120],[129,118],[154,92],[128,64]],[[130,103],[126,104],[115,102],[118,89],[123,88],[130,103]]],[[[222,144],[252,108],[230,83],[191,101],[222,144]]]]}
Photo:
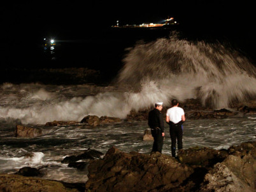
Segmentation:
{"type": "Polygon", "coordinates": [[[255,191],[256,161],[252,154],[244,158],[229,155],[205,175],[200,191],[255,191]]]}

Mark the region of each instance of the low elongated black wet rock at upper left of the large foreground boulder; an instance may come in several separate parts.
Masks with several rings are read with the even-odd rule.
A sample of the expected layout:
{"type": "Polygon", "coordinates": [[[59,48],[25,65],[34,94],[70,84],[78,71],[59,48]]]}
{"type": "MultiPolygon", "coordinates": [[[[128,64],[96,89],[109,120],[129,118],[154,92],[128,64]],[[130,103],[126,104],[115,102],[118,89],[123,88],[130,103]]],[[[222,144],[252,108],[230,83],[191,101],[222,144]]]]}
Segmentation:
{"type": "Polygon", "coordinates": [[[95,158],[101,158],[101,156],[103,156],[103,153],[101,153],[100,151],[96,151],[94,149],[87,149],[83,154],[79,154],[78,156],[66,156],[66,158],[64,158],[61,163],[71,163],[79,160],[94,160],[95,158]]]}

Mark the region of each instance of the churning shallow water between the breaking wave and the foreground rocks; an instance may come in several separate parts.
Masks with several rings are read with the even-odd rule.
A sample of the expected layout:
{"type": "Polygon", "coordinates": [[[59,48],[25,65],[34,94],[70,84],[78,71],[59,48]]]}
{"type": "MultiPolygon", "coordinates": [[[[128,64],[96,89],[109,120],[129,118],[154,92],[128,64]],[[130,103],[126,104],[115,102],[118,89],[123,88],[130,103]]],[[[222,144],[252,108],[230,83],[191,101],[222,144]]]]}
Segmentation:
{"type": "MultiPolygon", "coordinates": [[[[256,118],[252,117],[187,120],[183,125],[184,149],[194,146],[227,149],[241,142],[255,141],[256,118]]],[[[165,127],[162,153],[171,155],[169,128],[165,127]]],[[[34,139],[15,138],[11,135],[13,129],[0,128],[0,172],[12,173],[25,166],[41,167],[45,179],[85,182],[88,179],[87,170],[76,170],[60,163],[65,156],[78,155],[89,148],[106,153],[112,146],[124,152],[150,153],[153,141],[142,140],[146,128],[146,121],[115,123],[91,129],[81,126],[54,127],[48,135],[34,139]],[[24,158],[27,153],[34,153],[34,157],[24,158]]]]}

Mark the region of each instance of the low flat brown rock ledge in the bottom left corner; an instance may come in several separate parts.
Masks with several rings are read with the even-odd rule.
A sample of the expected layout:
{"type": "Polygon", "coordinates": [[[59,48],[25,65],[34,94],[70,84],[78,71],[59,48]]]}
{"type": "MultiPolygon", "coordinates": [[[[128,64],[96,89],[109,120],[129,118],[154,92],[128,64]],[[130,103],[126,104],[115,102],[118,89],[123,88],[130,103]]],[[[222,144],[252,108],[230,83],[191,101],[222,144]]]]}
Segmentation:
{"type": "Polygon", "coordinates": [[[0,191],[8,192],[28,192],[28,191],[48,191],[48,192],[75,192],[76,188],[68,188],[61,182],[48,181],[34,177],[24,177],[14,174],[0,174],[0,191]]]}

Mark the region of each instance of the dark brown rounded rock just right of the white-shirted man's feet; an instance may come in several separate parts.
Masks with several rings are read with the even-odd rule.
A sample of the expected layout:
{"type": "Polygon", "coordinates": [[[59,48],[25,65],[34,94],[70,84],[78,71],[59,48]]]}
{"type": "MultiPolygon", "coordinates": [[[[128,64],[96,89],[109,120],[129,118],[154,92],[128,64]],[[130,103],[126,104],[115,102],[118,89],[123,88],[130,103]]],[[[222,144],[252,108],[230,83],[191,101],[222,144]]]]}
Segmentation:
{"type": "Polygon", "coordinates": [[[211,167],[223,161],[229,154],[225,150],[215,150],[208,147],[190,147],[178,152],[178,159],[188,165],[211,167]]]}

